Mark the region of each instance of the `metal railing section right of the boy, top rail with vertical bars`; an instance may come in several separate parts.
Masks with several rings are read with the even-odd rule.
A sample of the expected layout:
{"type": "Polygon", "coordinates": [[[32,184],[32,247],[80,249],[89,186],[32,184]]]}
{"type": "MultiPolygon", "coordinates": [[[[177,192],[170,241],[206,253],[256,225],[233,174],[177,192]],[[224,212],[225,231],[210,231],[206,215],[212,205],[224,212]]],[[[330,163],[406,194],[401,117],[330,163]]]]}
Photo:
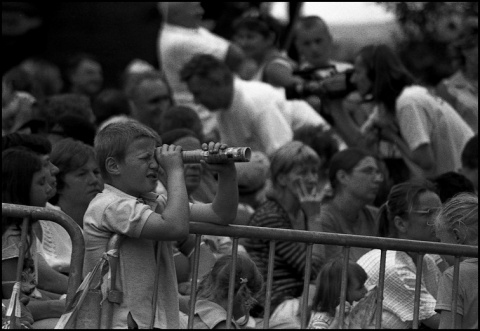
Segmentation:
{"type": "MultiPolygon", "coordinates": [[[[383,290],[384,290],[384,278],[385,278],[385,266],[386,266],[386,252],[388,250],[393,251],[405,251],[418,253],[416,261],[416,285],[415,285],[415,297],[414,297],[414,311],[413,311],[413,328],[419,327],[419,308],[420,308],[420,289],[422,280],[422,266],[423,258],[425,254],[439,254],[439,255],[451,255],[455,257],[454,263],[454,277],[453,277],[453,290],[452,290],[452,312],[457,311],[457,293],[458,293],[458,281],[459,281],[459,264],[461,257],[478,257],[478,247],[465,246],[465,245],[452,245],[442,244],[434,242],[424,242],[415,240],[404,239],[392,239],[392,238],[379,238],[379,237],[367,237],[356,236],[347,234],[335,234],[325,232],[313,232],[313,231],[301,231],[301,230],[286,230],[286,229],[273,229],[273,228],[258,228],[242,225],[230,225],[230,226],[218,226],[203,223],[190,223],[190,233],[196,234],[196,247],[193,262],[193,275],[191,286],[191,299],[190,299],[190,311],[188,328],[193,328],[193,316],[195,313],[196,302],[196,290],[197,290],[197,278],[198,278],[198,260],[199,260],[199,247],[201,243],[202,235],[213,236],[227,236],[233,238],[232,247],[232,268],[230,270],[230,285],[228,291],[228,309],[227,309],[227,321],[232,320],[233,312],[233,298],[234,298],[234,281],[235,281],[235,267],[238,255],[238,240],[239,238],[252,238],[263,239],[270,241],[270,252],[268,261],[268,272],[266,279],[266,300],[265,300],[265,313],[263,328],[269,328],[270,319],[270,298],[272,295],[272,279],[273,279],[273,260],[275,256],[275,246],[278,241],[295,241],[307,244],[306,265],[304,274],[304,290],[302,295],[302,302],[300,306],[301,311],[301,328],[304,329],[307,326],[307,304],[308,304],[308,287],[310,284],[311,273],[311,261],[312,261],[312,247],[313,244],[323,245],[337,245],[344,247],[344,268],[342,271],[342,285],[341,285],[341,298],[340,298],[340,326],[343,326],[345,318],[345,301],[347,295],[347,268],[350,247],[362,247],[370,249],[380,249],[380,271],[379,282],[377,286],[377,307],[376,307],[376,320],[375,328],[380,329],[382,327],[382,306],[383,306],[383,290]]],[[[456,313],[453,314],[452,328],[456,325],[456,313]]],[[[230,328],[230,324],[227,323],[227,328],[230,328]]]]}

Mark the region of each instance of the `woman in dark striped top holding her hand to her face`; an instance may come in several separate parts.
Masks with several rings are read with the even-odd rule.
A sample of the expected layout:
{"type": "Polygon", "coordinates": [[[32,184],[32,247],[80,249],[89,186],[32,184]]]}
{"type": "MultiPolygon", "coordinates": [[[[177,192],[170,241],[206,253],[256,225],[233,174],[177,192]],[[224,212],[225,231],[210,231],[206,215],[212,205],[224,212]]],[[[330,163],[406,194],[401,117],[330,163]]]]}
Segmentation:
{"type": "MultiPolygon", "coordinates": [[[[318,230],[315,222],[320,211],[320,188],[318,169],[320,159],[313,149],[299,141],[280,147],[271,156],[271,188],[263,202],[250,218],[249,225],[289,230],[318,230]]],[[[268,272],[269,241],[249,239],[244,242],[248,254],[263,275],[268,272]]],[[[307,246],[296,242],[277,242],[272,284],[270,326],[280,322],[274,317],[275,310],[289,299],[302,295],[307,246]]],[[[311,280],[320,269],[315,254],[312,260],[311,280]]],[[[252,316],[263,314],[265,298],[259,298],[252,316]]],[[[295,309],[294,309],[295,310],[295,309]]],[[[296,315],[298,311],[291,311],[296,315]]],[[[280,314],[282,315],[282,314],[280,314]]],[[[293,319],[292,321],[296,321],[293,319]]]]}

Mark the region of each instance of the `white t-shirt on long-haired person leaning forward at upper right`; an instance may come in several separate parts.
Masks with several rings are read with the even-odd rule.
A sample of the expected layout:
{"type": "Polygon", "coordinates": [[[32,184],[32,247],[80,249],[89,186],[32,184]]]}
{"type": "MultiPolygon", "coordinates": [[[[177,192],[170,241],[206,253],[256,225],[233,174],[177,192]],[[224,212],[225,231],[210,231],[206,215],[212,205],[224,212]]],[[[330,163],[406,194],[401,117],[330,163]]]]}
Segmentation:
{"type": "Polygon", "coordinates": [[[411,151],[429,144],[437,176],[461,168],[461,154],[474,132],[445,101],[421,86],[403,90],[396,102],[396,117],[403,139],[411,151]]]}

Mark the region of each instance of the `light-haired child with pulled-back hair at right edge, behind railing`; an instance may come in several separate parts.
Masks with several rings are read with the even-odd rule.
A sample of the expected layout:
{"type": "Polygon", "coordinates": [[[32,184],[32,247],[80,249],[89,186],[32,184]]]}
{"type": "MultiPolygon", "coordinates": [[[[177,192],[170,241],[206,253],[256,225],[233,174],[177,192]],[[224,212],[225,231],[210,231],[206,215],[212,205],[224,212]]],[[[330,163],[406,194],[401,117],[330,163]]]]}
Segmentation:
{"type": "MultiPolygon", "coordinates": [[[[462,193],[449,200],[435,219],[441,242],[478,246],[478,197],[462,193]]],[[[452,286],[454,267],[440,278],[435,310],[440,314],[440,329],[478,329],[478,258],[460,262],[457,320],[452,325],[452,286]]]]}

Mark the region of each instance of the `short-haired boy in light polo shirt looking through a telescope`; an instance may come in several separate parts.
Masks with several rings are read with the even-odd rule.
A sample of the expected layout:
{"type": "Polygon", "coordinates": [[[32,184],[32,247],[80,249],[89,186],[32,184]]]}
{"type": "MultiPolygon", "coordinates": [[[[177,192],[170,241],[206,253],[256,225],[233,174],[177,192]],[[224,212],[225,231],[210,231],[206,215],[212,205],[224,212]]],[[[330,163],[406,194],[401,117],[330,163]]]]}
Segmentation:
{"type": "MultiPolygon", "coordinates": [[[[113,328],[126,328],[129,313],[139,328],[148,328],[153,312],[154,328],[178,328],[172,241],[188,235],[189,221],[226,225],[236,217],[238,190],[233,163],[204,164],[218,173],[217,195],[211,204],[189,204],[182,149],[160,146],[156,133],[133,120],[110,124],[95,138],[105,189],[85,213],[83,270],[84,275],[92,270],[113,234],[126,236],[119,249],[116,284],[123,292],[123,300],[115,305],[113,328]],[[152,193],[160,168],[167,176],[168,200],[152,193]],[[157,268],[160,281],[158,299],[153,304],[157,268]]],[[[226,147],[213,142],[202,146],[211,153],[226,147]]]]}

